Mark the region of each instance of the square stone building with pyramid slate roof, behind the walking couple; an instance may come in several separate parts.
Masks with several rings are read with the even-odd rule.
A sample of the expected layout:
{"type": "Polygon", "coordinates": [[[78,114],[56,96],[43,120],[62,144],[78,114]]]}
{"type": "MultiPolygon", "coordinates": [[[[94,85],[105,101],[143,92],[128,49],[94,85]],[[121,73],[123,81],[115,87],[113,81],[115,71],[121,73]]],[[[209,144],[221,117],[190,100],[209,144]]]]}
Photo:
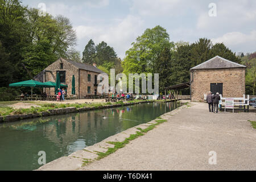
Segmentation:
{"type": "Polygon", "coordinates": [[[222,97],[243,97],[245,65],[220,56],[213,57],[190,69],[191,101],[204,101],[209,91],[222,97]]]}

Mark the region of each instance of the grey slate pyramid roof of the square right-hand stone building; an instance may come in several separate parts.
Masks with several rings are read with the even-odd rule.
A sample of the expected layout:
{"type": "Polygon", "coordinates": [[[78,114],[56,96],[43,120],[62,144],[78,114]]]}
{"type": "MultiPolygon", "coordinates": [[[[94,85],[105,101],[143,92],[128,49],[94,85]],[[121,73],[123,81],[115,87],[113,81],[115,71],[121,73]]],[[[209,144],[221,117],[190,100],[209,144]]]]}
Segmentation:
{"type": "Polygon", "coordinates": [[[215,56],[191,69],[246,68],[245,65],[234,63],[220,56],[215,56]]]}

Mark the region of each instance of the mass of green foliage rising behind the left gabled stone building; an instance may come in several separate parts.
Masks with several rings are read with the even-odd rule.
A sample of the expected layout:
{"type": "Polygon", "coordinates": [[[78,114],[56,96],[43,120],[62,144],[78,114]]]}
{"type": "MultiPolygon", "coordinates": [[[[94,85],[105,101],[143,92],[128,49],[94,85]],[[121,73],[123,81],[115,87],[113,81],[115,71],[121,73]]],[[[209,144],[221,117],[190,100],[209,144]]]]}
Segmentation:
{"type": "Polygon", "coordinates": [[[79,60],[73,49],[76,34],[68,18],[39,16],[38,9],[21,3],[0,0],[1,86],[31,79],[59,57],[79,60]]]}

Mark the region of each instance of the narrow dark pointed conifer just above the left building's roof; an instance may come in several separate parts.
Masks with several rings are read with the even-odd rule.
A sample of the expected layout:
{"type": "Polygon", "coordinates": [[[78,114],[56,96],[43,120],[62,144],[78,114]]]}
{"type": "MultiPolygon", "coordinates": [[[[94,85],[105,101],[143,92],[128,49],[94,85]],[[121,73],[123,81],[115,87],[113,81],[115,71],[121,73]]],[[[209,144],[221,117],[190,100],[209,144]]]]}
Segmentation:
{"type": "Polygon", "coordinates": [[[92,39],[89,40],[88,44],[82,52],[82,63],[93,64],[96,57],[96,47],[92,39]]]}

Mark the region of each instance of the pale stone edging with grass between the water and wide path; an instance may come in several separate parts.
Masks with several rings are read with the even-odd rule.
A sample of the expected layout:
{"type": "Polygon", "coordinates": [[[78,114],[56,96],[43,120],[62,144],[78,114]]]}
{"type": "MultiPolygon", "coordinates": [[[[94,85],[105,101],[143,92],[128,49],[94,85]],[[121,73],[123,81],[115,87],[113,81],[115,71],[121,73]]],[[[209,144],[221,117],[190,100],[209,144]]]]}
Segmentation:
{"type": "MultiPolygon", "coordinates": [[[[179,102],[184,105],[177,107],[176,109],[170,112],[164,113],[160,115],[158,118],[155,118],[150,122],[142,123],[140,125],[131,127],[130,129],[127,129],[125,131],[122,131],[121,133],[112,135],[102,140],[101,142],[94,144],[93,146],[85,147],[83,150],[73,152],[68,156],[63,156],[61,158],[52,160],[51,162],[44,164],[38,169],[35,169],[35,171],[79,170],[85,165],[93,163],[96,160],[100,160],[101,159],[100,156],[102,156],[102,154],[103,154],[102,158],[104,158],[105,156],[108,156],[109,154],[113,154],[115,151],[118,150],[118,147],[115,148],[115,144],[125,143],[124,146],[122,146],[122,147],[125,147],[125,145],[129,143],[129,141],[146,134],[147,130],[148,131],[152,130],[155,128],[156,125],[167,122],[168,119],[170,119],[173,115],[176,115],[180,113],[181,110],[187,109],[188,107],[191,107],[193,105],[191,103],[187,104],[188,102],[184,100],[180,100],[179,102]],[[158,122],[158,121],[161,121],[161,122],[158,122]],[[142,131],[146,131],[146,132],[143,133],[142,135],[138,134],[138,133],[142,133],[142,131]],[[113,152],[112,151],[109,152],[109,149],[113,150],[113,152]]],[[[122,147],[119,147],[119,148],[122,148],[122,147]]]]}

